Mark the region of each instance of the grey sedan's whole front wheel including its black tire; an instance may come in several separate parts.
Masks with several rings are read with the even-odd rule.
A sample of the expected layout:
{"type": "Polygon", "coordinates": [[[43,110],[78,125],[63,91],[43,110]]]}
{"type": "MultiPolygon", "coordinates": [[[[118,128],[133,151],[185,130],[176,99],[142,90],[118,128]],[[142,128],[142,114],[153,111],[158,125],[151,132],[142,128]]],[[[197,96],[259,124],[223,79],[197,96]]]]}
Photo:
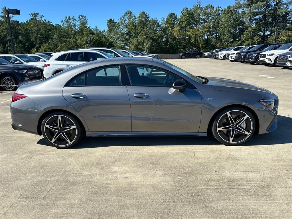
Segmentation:
{"type": "Polygon", "coordinates": [[[224,145],[241,145],[251,138],[255,125],[255,119],[248,110],[232,107],[225,109],[215,117],[212,133],[224,145]]]}

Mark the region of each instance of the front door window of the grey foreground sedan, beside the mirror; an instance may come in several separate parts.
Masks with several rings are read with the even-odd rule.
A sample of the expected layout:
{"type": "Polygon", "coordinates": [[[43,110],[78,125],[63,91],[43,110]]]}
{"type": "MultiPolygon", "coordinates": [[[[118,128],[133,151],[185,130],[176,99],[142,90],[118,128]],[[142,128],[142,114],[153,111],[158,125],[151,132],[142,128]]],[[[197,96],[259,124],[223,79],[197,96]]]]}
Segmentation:
{"type": "Polygon", "coordinates": [[[168,72],[148,66],[127,65],[131,85],[172,86],[178,78],[168,72]]]}

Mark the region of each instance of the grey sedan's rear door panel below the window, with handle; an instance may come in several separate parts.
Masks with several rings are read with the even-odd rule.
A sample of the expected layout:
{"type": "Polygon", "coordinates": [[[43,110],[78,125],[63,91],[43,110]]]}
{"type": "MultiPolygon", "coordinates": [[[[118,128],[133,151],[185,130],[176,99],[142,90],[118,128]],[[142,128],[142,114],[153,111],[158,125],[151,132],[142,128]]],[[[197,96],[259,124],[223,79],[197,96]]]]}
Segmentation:
{"type": "Polygon", "coordinates": [[[63,96],[86,121],[89,131],[131,131],[131,107],[126,86],[64,87],[63,96]],[[72,94],[86,97],[72,98],[72,94]]]}

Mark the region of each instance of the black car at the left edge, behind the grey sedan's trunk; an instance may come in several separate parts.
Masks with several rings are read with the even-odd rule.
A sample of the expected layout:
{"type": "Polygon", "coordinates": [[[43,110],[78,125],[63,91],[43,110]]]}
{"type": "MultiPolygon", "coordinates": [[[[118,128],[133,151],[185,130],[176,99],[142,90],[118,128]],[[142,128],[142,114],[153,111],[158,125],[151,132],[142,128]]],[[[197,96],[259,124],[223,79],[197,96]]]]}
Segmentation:
{"type": "Polygon", "coordinates": [[[32,65],[17,65],[0,58],[0,85],[6,91],[13,91],[22,82],[41,79],[41,71],[32,65]]]}

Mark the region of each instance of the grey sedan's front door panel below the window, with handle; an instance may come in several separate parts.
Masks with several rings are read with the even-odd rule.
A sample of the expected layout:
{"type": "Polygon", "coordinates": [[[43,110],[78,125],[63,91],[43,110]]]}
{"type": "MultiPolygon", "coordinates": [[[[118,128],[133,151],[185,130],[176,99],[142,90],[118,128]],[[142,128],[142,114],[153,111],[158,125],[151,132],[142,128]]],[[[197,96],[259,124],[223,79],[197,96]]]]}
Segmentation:
{"type": "Polygon", "coordinates": [[[196,89],[187,88],[182,93],[170,87],[127,88],[133,132],[199,131],[202,101],[196,89]]]}

